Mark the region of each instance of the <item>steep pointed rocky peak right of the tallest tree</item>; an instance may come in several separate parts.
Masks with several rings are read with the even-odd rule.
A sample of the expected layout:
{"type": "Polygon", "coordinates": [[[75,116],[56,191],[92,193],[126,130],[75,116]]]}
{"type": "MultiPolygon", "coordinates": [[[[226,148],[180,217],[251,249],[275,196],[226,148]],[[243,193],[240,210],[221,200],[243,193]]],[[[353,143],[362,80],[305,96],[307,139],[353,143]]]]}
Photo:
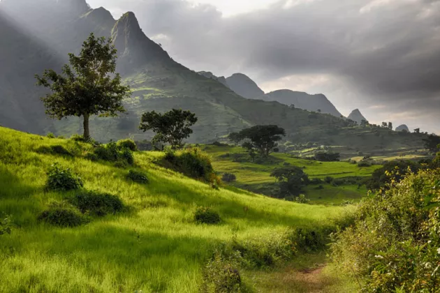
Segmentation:
{"type": "Polygon", "coordinates": [[[119,54],[118,70],[121,73],[141,68],[147,63],[170,63],[168,53],[150,40],[140,28],[132,12],[125,13],[112,29],[112,40],[119,54]]]}

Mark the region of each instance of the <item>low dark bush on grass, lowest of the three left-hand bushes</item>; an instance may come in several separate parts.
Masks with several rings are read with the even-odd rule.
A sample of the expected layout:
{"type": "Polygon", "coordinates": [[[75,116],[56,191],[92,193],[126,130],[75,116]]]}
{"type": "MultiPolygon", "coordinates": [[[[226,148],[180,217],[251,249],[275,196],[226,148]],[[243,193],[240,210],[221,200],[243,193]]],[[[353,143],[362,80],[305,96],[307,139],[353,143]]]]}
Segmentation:
{"type": "Polygon", "coordinates": [[[76,227],[89,223],[89,218],[66,202],[50,204],[49,208],[38,216],[38,220],[60,227],[76,227]]]}

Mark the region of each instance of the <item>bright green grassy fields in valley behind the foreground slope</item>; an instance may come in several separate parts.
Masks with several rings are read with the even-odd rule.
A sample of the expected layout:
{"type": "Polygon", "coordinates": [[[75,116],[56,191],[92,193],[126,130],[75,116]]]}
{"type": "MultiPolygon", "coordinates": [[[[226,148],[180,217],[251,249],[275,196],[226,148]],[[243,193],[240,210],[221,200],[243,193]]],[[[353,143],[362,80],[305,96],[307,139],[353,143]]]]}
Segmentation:
{"type": "MultiPolygon", "coordinates": [[[[259,165],[254,163],[236,163],[233,162],[232,157],[224,156],[226,153],[243,153],[241,147],[217,147],[208,145],[203,148],[213,158],[213,165],[215,169],[222,173],[233,173],[237,176],[237,181],[233,183],[234,186],[254,190],[255,192],[264,192],[268,185],[273,184],[276,180],[270,176],[274,168],[281,167],[284,163],[289,163],[298,167],[305,167],[304,171],[310,178],[323,179],[325,176],[332,176],[333,178],[342,178],[348,176],[370,176],[376,168],[372,167],[358,167],[346,162],[317,162],[314,160],[302,160],[291,158],[286,153],[274,153],[272,156],[279,160],[272,165],[259,165]]],[[[314,203],[318,204],[339,204],[344,200],[359,200],[360,197],[367,194],[365,187],[358,188],[358,186],[330,186],[324,184],[323,190],[317,190],[316,186],[307,187],[307,197],[314,203]]]]}

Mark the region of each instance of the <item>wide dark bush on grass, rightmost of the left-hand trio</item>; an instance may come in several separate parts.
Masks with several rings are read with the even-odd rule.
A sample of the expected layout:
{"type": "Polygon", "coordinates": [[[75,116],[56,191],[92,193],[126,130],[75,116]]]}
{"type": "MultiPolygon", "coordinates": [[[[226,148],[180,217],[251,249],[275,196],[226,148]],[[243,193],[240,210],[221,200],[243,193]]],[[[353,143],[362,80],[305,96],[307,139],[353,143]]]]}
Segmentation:
{"type": "Polygon", "coordinates": [[[102,217],[109,213],[117,213],[124,209],[122,200],[116,195],[82,190],[68,199],[81,213],[89,213],[102,217]]]}

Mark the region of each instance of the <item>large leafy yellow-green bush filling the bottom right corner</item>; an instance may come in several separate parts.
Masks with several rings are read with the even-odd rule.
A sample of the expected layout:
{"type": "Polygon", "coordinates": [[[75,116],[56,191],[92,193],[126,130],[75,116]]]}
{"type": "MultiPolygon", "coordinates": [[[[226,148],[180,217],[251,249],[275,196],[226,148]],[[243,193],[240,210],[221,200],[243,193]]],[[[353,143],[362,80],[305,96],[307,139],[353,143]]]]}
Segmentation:
{"type": "Polygon", "coordinates": [[[355,225],[335,236],[332,259],[363,292],[437,292],[439,170],[408,174],[360,204],[355,225]]]}

